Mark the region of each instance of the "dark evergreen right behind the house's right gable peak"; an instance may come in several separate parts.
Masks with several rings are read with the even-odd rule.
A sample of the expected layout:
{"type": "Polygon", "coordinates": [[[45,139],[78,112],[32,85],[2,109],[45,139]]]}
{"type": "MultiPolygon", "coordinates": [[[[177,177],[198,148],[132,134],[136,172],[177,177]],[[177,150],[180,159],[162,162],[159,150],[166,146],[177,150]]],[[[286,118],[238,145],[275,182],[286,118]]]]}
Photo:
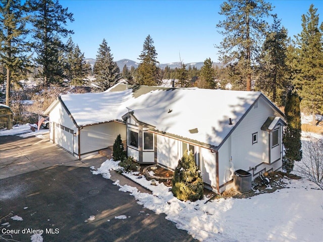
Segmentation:
{"type": "Polygon", "coordinates": [[[279,105],[284,105],[281,95],[288,84],[286,79],[287,43],[287,30],[281,27],[281,21],[274,15],[273,25],[262,45],[256,87],[279,105]]]}

